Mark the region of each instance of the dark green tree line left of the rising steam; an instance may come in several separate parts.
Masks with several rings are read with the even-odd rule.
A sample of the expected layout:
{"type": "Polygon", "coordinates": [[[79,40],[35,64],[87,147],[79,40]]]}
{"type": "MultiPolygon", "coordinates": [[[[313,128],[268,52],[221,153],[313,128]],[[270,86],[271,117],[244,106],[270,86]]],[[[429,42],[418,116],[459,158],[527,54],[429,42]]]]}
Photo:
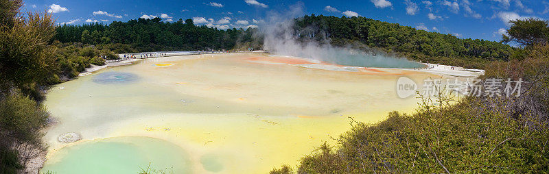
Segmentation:
{"type": "MultiPolygon", "coordinates": [[[[124,44],[137,51],[229,50],[239,44],[254,42],[255,28],[217,29],[194,25],[192,19],[174,23],[161,18],[138,18],[110,25],[89,23],[61,25],[56,29],[59,42],[82,42],[89,45],[124,44]]],[[[256,44],[259,45],[259,44],[256,44]]],[[[116,50],[117,53],[123,53],[116,50]]]]}

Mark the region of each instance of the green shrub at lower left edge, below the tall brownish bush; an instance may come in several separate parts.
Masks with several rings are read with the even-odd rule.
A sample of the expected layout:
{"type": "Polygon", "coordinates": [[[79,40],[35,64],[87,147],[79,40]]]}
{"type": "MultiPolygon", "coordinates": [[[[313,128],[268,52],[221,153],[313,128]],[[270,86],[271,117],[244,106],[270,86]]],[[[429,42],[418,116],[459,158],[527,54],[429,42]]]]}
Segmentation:
{"type": "Polygon", "coordinates": [[[31,158],[37,154],[34,150],[44,149],[42,130],[47,127],[48,118],[43,105],[21,92],[0,100],[0,173],[15,173],[24,165],[18,158],[31,158]],[[27,150],[30,148],[33,151],[27,150]]]}

